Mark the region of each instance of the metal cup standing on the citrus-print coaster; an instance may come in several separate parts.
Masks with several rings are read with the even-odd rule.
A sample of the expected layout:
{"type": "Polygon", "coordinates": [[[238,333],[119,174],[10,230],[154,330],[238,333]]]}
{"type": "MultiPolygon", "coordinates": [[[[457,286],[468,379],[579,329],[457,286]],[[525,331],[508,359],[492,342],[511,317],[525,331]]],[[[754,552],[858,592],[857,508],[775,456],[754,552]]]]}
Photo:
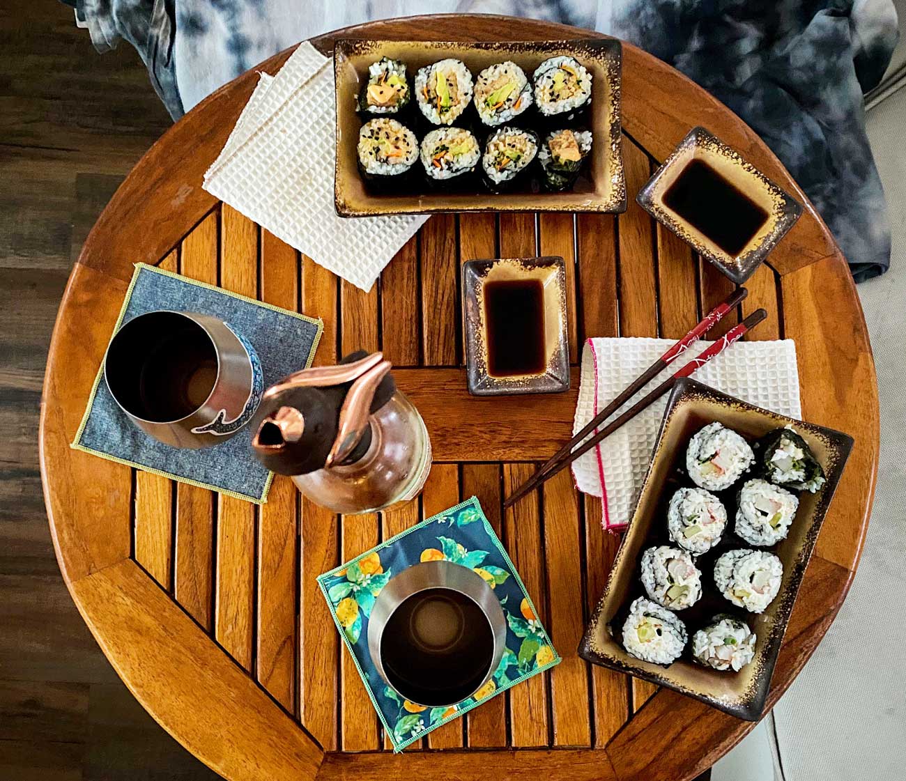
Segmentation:
{"type": "Polygon", "coordinates": [[[475,694],[491,680],[505,649],[499,600],[461,564],[413,564],[390,578],[371,607],[371,661],[400,697],[426,708],[475,694]]]}

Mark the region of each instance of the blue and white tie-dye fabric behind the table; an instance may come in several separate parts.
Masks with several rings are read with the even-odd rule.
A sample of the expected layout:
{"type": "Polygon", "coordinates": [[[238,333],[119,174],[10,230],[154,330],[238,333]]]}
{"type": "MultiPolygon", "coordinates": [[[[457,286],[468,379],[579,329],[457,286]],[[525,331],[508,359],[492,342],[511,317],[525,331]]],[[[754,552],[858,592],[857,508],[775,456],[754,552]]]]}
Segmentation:
{"type": "Polygon", "coordinates": [[[670,63],[747,121],[834,233],[857,281],[890,264],[863,93],[897,42],[892,0],[77,0],[101,49],[122,37],[174,118],[298,41],[349,24],[495,13],[588,27],[670,63]]]}

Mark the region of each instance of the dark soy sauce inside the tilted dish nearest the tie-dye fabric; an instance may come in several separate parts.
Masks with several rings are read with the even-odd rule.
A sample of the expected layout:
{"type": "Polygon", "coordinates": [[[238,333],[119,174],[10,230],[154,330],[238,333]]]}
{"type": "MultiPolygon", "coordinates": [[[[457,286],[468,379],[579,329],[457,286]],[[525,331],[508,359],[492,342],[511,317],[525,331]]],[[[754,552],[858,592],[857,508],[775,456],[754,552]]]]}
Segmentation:
{"type": "Polygon", "coordinates": [[[767,212],[703,160],[693,159],[664,193],[664,206],[737,256],[767,220],[767,212]]]}

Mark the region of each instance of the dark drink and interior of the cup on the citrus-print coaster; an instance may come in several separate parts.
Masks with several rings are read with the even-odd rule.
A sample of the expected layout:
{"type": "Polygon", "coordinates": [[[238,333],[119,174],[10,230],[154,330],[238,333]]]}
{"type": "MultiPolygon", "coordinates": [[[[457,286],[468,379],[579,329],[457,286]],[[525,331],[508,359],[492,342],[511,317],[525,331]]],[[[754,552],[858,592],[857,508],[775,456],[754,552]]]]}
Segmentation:
{"type": "Polygon", "coordinates": [[[448,588],[412,594],[390,615],[381,639],[390,685],[429,707],[466,699],[485,680],[493,658],[487,617],[465,594],[448,588]]]}

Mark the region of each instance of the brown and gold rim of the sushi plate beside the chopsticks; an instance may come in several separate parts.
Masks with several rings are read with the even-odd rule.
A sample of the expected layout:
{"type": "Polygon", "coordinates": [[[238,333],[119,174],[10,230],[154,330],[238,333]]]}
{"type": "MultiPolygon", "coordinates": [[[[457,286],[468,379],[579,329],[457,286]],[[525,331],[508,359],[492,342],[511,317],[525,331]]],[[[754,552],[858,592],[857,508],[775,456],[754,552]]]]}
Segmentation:
{"type": "MultiPolygon", "coordinates": [[[[748,721],[757,721],[761,718],[762,710],[765,707],[765,700],[770,688],[771,676],[774,673],[777,656],[780,652],[784,633],[786,632],[786,624],[789,622],[790,613],[793,611],[796,593],[798,593],[799,586],[802,583],[805,567],[808,565],[809,559],[812,556],[814,543],[821,531],[821,525],[824,523],[824,516],[834,497],[834,492],[840,477],[843,474],[843,467],[846,464],[846,459],[849,457],[852,447],[853,438],[840,431],[826,429],[823,426],[817,426],[814,423],[806,423],[801,420],[787,418],[786,416],[779,415],[770,410],[763,410],[752,404],[748,404],[746,401],[735,399],[732,396],[721,393],[701,382],[689,380],[688,378],[679,380],[670,392],[667,409],[664,411],[664,417],[660,423],[658,439],[651,454],[648,472],[642,483],[639,504],[636,506],[636,510],[633,513],[629,525],[629,530],[623,538],[620,549],[617,551],[616,557],[614,558],[607,579],[607,585],[604,587],[604,592],[594,609],[592,620],[579,645],[579,655],[583,659],[591,661],[593,664],[599,664],[602,667],[607,667],[612,670],[619,670],[620,672],[627,673],[636,678],[651,681],[651,683],[658,686],[664,686],[668,689],[679,691],[680,694],[699,699],[714,708],[723,710],[731,716],[744,718],[748,721]],[[707,402],[712,405],[717,404],[728,410],[743,410],[747,415],[756,416],[762,421],[769,421],[772,428],[780,428],[787,424],[793,425],[797,431],[808,432],[815,438],[823,440],[829,456],[827,462],[822,465],[824,467],[824,474],[827,478],[827,482],[822,489],[820,497],[818,497],[815,503],[811,518],[797,519],[800,523],[807,520],[809,525],[805,531],[802,543],[795,551],[792,564],[784,565],[784,576],[786,578],[788,573],[788,580],[786,581],[786,586],[782,586],[780,593],[776,596],[775,602],[771,605],[774,610],[774,621],[768,627],[764,642],[759,643],[760,649],[757,649],[755,658],[750,662],[751,665],[754,665],[751,682],[736,699],[718,699],[708,692],[696,689],[695,686],[689,685],[688,681],[682,680],[682,670],[673,670],[672,666],[661,667],[659,665],[650,665],[652,668],[658,668],[658,672],[652,672],[648,668],[641,667],[641,665],[635,663],[635,660],[633,660],[628,653],[622,651],[622,642],[617,636],[612,636],[612,641],[621,648],[622,652],[619,657],[613,655],[605,648],[602,648],[597,641],[597,637],[601,632],[610,634],[607,625],[612,622],[613,618],[620,610],[621,605],[617,604],[616,606],[612,606],[612,609],[608,611],[607,603],[612,591],[621,587],[626,580],[626,578],[624,578],[621,583],[616,583],[617,573],[622,569],[622,560],[628,555],[627,550],[631,547],[630,542],[634,542],[636,535],[647,538],[649,536],[651,523],[656,523],[658,520],[657,518],[652,518],[648,525],[643,525],[643,522],[640,519],[640,507],[642,499],[646,497],[646,494],[650,490],[658,490],[657,488],[649,486],[649,482],[651,481],[652,474],[658,461],[661,458],[671,458],[670,454],[668,454],[663,447],[664,434],[670,427],[671,421],[675,418],[676,413],[679,410],[684,407],[694,408],[695,405],[700,404],[701,402],[707,402]],[[605,614],[605,612],[609,612],[609,614],[605,614]]],[[[770,550],[770,548],[756,549],[770,550]]],[[[630,577],[633,577],[635,574],[635,567],[630,567],[627,572],[630,577]]],[[[680,618],[681,617],[682,616],[680,615],[680,618]]],[[[689,642],[692,641],[692,634],[696,628],[688,628],[689,642]]],[[[714,676],[734,674],[718,670],[707,670],[707,672],[709,675],[714,676]]]]}

